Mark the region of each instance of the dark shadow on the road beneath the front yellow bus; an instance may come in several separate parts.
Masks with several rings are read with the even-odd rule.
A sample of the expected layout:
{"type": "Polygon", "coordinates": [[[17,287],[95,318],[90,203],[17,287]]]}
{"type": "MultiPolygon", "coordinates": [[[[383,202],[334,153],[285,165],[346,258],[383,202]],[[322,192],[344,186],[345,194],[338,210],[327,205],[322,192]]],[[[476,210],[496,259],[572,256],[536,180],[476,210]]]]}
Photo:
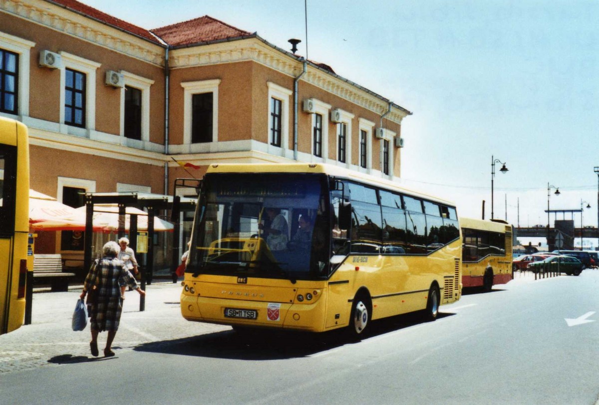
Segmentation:
{"type": "MultiPolygon", "coordinates": [[[[438,319],[454,315],[439,313],[438,319]]],[[[380,336],[392,331],[401,330],[426,323],[419,313],[393,316],[371,322],[361,340],[380,336]]],[[[347,344],[359,343],[350,339],[345,330],[334,330],[324,333],[307,333],[297,331],[273,331],[257,328],[242,328],[208,333],[185,339],[163,340],[146,343],[135,348],[135,351],[161,354],[176,354],[196,357],[227,358],[232,360],[282,360],[287,358],[307,357],[318,352],[327,351],[347,344]]]]}

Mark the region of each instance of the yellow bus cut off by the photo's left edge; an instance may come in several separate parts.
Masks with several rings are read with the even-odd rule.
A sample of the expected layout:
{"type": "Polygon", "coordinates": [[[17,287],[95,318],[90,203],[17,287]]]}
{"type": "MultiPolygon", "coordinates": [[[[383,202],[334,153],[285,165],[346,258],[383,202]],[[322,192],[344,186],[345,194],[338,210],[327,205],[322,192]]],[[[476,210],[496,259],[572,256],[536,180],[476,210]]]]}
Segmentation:
{"type": "Polygon", "coordinates": [[[27,128],[0,117],[0,334],[23,324],[29,232],[27,128]]]}

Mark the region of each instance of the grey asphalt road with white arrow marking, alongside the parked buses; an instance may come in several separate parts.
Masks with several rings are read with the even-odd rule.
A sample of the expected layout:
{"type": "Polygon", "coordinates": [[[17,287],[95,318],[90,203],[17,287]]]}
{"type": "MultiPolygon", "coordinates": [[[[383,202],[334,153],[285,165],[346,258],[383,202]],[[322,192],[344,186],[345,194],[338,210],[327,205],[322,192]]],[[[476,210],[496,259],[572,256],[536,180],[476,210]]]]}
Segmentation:
{"type": "MultiPolygon", "coordinates": [[[[86,334],[75,351],[77,333],[68,331],[66,319],[70,339],[62,350],[46,348],[58,354],[46,355],[55,367],[4,373],[0,397],[108,404],[114,397],[105,393],[116,392],[149,404],[593,405],[599,397],[598,287],[594,270],[539,281],[517,273],[491,293],[442,306],[435,322],[412,315],[374,322],[358,343],[339,334],[248,337],[228,327],[180,324],[177,305],[163,299],[160,310],[123,315],[129,329],[117,334],[122,349],[115,358],[90,361],[86,334]],[[142,326],[146,316],[156,321],[145,322],[154,325],[150,332],[142,326]]],[[[0,347],[4,342],[0,336],[0,347]]]]}

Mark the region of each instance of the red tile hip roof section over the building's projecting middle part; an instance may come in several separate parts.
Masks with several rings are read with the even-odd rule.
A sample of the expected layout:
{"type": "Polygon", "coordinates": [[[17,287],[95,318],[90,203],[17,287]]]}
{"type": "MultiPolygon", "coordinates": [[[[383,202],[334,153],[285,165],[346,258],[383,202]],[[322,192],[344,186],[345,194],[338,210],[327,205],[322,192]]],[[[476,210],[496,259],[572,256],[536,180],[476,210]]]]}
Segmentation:
{"type": "Polygon", "coordinates": [[[151,31],[174,47],[252,35],[248,31],[235,28],[210,16],[199,17],[152,29],[151,31]]]}

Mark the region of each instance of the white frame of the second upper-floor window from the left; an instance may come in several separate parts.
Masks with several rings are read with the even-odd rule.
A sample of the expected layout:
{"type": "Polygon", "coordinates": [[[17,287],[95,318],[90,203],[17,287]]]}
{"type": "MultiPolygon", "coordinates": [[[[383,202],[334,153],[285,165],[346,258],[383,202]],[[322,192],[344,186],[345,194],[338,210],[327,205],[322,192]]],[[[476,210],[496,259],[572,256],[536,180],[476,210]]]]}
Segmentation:
{"type": "Polygon", "coordinates": [[[89,133],[96,130],[96,70],[102,64],[65,51],[59,51],[59,54],[62,59],[62,66],[60,67],[60,132],[89,138],[89,133]],[[85,74],[84,128],[65,124],[66,69],[73,69],[85,74]]]}

